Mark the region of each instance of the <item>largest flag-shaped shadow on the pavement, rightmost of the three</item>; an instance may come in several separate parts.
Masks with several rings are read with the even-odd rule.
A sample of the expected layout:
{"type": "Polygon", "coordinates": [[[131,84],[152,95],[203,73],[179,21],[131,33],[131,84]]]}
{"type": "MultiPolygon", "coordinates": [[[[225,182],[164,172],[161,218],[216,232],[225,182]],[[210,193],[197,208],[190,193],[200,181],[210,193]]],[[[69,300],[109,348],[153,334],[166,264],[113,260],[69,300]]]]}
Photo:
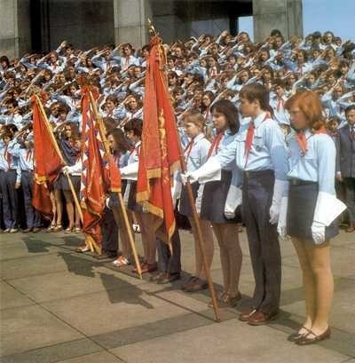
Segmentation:
{"type": "Polygon", "coordinates": [[[111,304],[125,303],[125,304],[139,304],[146,307],[146,309],[154,309],[154,306],[143,297],[145,294],[137,286],[131,285],[125,280],[121,280],[114,274],[106,272],[97,272],[106,294],[111,304]]]}

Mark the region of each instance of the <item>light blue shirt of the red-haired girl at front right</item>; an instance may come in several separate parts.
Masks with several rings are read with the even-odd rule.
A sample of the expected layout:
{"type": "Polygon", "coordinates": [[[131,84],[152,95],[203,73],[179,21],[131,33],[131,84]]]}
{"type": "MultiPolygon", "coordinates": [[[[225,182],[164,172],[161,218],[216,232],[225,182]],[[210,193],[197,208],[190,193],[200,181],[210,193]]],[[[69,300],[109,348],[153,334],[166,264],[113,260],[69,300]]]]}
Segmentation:
{"type": "Polygon", "coordinates": [[[288,178],[318,182],[319,192],[335,195],[335,143],[327,134],[305,131],[307,152],[304,156],[296,133],[288,136],[288,178]]]}

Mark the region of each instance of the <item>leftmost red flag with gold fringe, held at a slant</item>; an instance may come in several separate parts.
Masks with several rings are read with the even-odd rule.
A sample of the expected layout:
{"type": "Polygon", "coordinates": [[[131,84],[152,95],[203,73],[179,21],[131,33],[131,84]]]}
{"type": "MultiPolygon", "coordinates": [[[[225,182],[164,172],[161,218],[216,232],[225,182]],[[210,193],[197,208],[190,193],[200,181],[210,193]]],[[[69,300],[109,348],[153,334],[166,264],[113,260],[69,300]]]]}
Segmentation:
{"type": "MultiPolygon", "coordinates": [[[[50,191],[58,178],[64,162],[51,131],[50,124],[43,118],[41,100],[32,99],[33,133],[35,144],[35,178],[32,204],[44,217],[52,217],[50,191]]],[[[43,108],[42,108],[43,109],[43,108]]]]}

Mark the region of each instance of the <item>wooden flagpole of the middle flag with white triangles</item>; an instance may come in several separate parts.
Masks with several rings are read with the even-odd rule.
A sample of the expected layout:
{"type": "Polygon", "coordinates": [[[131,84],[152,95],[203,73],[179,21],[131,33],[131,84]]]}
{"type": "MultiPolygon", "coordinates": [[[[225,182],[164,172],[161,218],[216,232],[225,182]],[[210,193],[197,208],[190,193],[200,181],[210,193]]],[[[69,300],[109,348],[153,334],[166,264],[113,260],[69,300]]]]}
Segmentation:
{"type": "MultiPolygon", "coordinates": [[[[105,147],[105,153],[108,155],[108,154],[110,154],[110,151],[109,151],[109,147],[108,147],[108,144],[107,144],[102,119],[101,119],[101,117],[99,117],[98,107],[96,105],[95,99],[92,96],[91,91],[89,91],[89,95],[90,95],[91,107],[92,107],[92,110],[93,110],[93,112],[95,114],[95,118],[96,118],[96,120],[98,122],[98,125],[99,125],[99,133],[100,133],[102,143],[103,143],[103,145],[105,147]]],[[[139,278],[140,278],[140,280],[142,280],[142,269],[140,267],[140,263],[139,263],[139,259],[138,259],[138,253],[137,253],[137,249],[136,249],[136,244],[134,243],[132,228],[131,228],[130,221],[129,221],[128,215],[127,215],[127,210],[126,210],[126,207],[124,205],[123,198],[122,198],[122,193],[117,192],[117,197],[118,197],[118,201],[120,203],[120,208],[122,210],[123,223],[126,226],[128,238],[129,238],[129,241],[130,241],[130,248],[132,249],[132,253],[133,253],[133,257],[134,257],[134,262],[136,264],[136,268],[137,268],[137,271],[138,271],[139,278]]],[[[120,213],[118,213],[118,215],[120,216],[120,213]]]]}

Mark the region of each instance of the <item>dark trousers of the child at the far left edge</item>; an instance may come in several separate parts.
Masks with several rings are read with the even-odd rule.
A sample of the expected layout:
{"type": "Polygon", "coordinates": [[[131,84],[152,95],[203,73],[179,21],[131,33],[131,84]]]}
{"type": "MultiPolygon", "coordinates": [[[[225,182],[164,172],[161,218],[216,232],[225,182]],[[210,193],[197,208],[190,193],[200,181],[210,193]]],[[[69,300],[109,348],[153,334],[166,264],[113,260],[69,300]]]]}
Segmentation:
{"type": "Polygon", "coordinates": [[[15,189],[16,170],[1,170],[0,185],[3,195],[3,216],[5,228],[15,228],[18,225],[18,195],[15,189]]]}

